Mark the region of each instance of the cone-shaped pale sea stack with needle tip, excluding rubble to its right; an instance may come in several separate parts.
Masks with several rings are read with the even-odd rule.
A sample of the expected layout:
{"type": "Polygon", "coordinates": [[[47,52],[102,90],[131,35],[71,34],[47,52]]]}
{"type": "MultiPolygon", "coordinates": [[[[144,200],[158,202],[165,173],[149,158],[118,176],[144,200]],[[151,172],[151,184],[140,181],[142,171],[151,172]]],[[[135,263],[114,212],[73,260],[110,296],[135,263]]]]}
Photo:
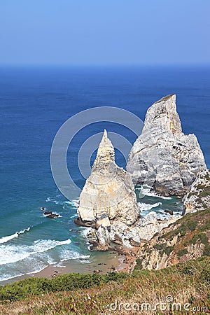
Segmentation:
{"type": "Polygon", "coordinates": [[[96,228],[98,250],[109,248],[109,231],[114,223],[126,228],[140,216],[130,174],[115,162],[115,151],[106,130],[97,151],[78,207],[76,223],[96,228]]]}

